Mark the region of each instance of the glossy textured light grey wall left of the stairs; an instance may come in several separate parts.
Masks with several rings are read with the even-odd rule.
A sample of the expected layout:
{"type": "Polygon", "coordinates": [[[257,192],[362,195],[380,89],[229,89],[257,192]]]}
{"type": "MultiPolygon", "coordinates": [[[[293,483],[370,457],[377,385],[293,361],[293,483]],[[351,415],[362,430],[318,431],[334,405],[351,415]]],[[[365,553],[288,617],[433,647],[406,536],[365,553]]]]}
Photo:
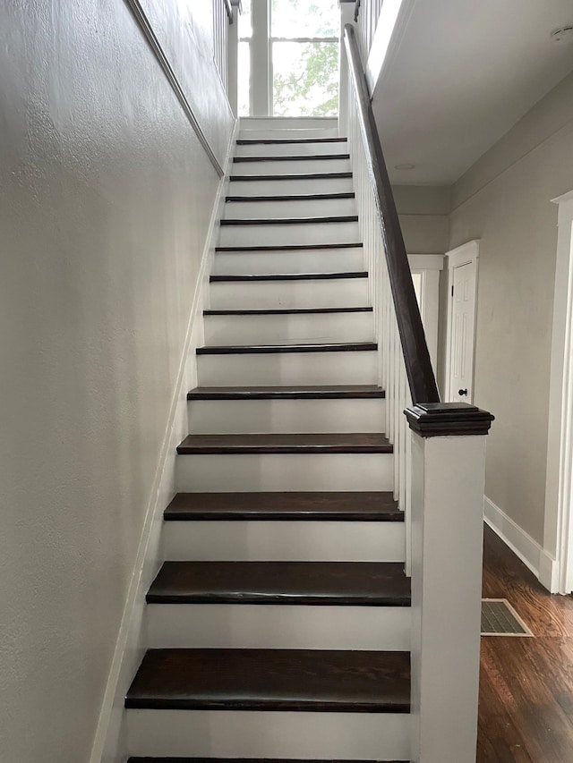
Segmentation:
{"type": "Polygon", "coordinates": [[[123,0],[4,3],[0,40],[0,760],[81,763],[218,176],[123,0]]]}

